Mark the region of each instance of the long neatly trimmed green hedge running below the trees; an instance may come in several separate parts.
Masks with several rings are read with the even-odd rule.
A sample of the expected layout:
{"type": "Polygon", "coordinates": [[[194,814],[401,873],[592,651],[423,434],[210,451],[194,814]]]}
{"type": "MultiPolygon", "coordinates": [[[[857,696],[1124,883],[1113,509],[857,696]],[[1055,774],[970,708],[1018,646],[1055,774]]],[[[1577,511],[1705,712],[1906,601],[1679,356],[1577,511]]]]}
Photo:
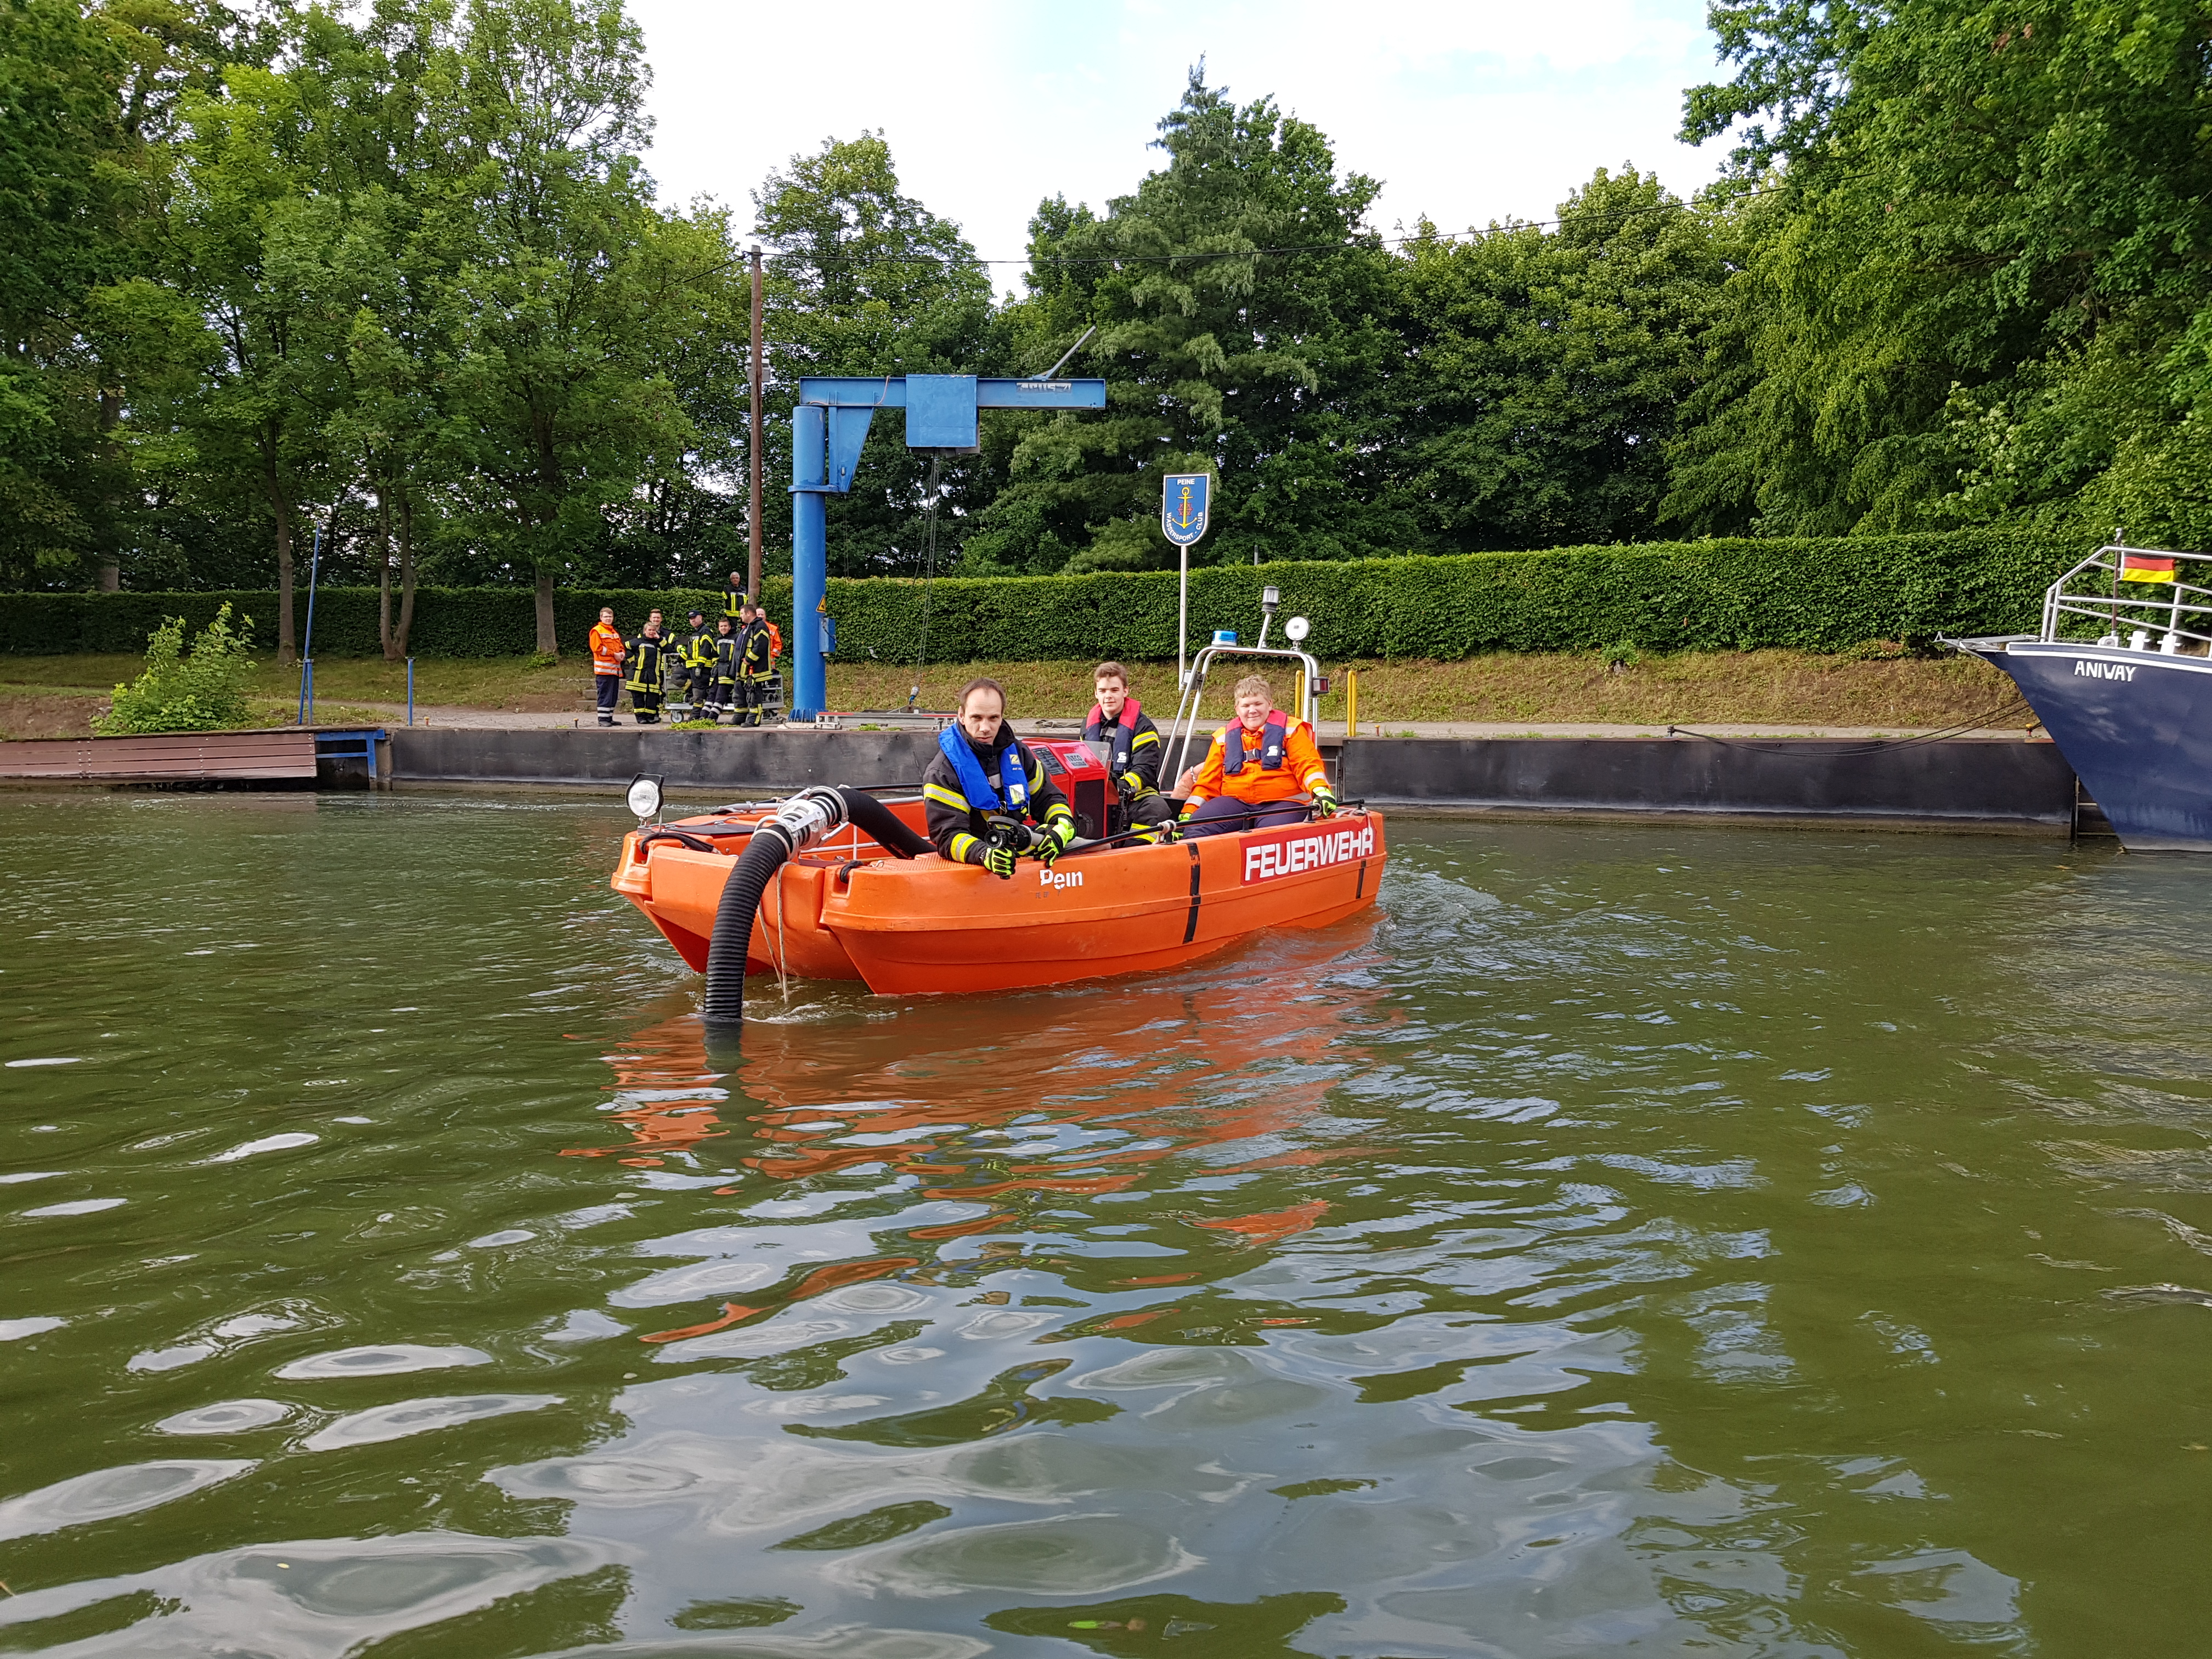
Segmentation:
{"type": "MultiPolygon", "coordinates": [[[[2044,588],[2081,549],[2013,531],[1854,540],[1712,540],[1546,553],[1469,553],[1363,562],[1214,566],[1190,575],[1190,639],[1259,628],[1259,591],[1283,591],[1283,617],[1312,617],[1307,648],[1347,657],[1471,657],[1484,650],[1843,650],[1867,639],[2033,628],[2044,588]]],[[[790,580],[768,584],[790,633],[790,580]]],[[[1175,657],[1175,573],[1073,577],[834,580],[841,657],[914,661],[929,606],[929,661],[1175,657]]],[[[0,650],[142,650],[166,615],[195,626],[230,599],[274,637],[274,593],[18,593],[0,599],[0,650]]],[[[719,595],[564,591],[564,650],[582,650],[602,604],[624,628],[650,606],[714,613],[719,595]]],[[[529,588],[425,588],[418,657],[535,650],[529,588]]],[[[305,595],[299,602],[305,619],[305,595]]],[[[316,655],[376,653],[376,593],[316,597],[316,655]]]]}

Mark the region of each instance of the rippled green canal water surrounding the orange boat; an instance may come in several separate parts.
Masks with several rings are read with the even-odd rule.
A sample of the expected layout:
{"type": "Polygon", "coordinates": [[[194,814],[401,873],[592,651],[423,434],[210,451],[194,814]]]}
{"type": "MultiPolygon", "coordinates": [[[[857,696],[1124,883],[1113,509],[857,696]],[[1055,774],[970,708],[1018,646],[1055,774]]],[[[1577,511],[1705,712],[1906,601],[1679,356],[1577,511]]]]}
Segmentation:
{"type": "Polygon", "coordinates": [[[2201,1650],[2212,863],[1400,823],[721,1075],[622,827],[0,796],[0,1650],[2201,1650]]]}

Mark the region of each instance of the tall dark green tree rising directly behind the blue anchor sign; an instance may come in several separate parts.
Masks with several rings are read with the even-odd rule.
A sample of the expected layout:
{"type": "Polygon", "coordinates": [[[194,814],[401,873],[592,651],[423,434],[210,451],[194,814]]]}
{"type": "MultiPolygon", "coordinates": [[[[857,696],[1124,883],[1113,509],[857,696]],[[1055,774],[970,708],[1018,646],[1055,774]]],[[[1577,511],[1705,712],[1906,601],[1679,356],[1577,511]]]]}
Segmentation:
{"type": "Polygon", "coordinates": [[[1031,299],[1006,319],[1024,367],[1097,323],[1068,372],[1104,376],[1108,403],[1009,422],[1011,484],[969,531],[964,568],[1172,564],[1159,480],[1179,471],[1221,480],[1194,562],[1405,546],[1374,507],[1378,456],[1356,418],[1402,358],[1391,259],[1365,226],[1380,186],[1340,177],[1329,139],[1272,97],[1239,106],[1197,71],[1159,133],[1168,164],[1104,217],[1055,199],[1031,221],[1031,299]],[[1261,252],[1276,248],[1305,252],[1261,252]]]}

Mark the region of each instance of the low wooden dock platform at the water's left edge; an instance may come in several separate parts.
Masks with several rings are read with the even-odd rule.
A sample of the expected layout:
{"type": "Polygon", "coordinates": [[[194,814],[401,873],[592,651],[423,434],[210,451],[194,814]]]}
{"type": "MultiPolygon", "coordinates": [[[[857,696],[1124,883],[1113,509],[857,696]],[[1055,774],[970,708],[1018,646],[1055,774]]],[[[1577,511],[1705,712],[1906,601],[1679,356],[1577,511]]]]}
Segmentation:
{"type": "Polygon", "coordinates": [[[272,726],[155,737],[0,743],[0,779],[55,783],[246,783],[374,787],[392,774],[378,726],[272,726]]]}

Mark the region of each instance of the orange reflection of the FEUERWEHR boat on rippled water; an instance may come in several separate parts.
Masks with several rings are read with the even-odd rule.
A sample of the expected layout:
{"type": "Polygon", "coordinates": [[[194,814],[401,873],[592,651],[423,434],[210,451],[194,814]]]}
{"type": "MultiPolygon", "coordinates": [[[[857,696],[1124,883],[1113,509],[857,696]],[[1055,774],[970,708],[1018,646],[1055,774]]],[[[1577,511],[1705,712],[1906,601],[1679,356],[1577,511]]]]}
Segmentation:
{"type": "MultiPolygon", "coordinates": [[[[1239,1252],[1321,1225],[1329,1201],[1314,1197],[1310,1172],[1374,1152],[1316,1146],[1310,1126],[1325,1113],[1327,1091],[1365,1057],[1347,1051],[1347,1022],[1369,1009],[1376,991],[1332,987],[1323,998],[1296,998],[1283,993],[1283,982],[1318,969],[1343,945],[1283,940],[1290,964],[1270,960],[1267,971],[1194,989],[1026,1000],[1031,1018],[1018,1024],[1000,1002],[949,1004],[931,1018],[925,1048],[902,1022],[841,1020],[836,1042],[825,1042],[818,1020],[761,1020],[748,1026],[737,1071],[721,1073],[692,1018],[637,1033],[608,1055],[617,1091],[608,1117],[630,1141],[575,1148],[571,1157],[732,1170],[730,1183],[717,1188],[726,1197],[759,1197],[761,1177],[781,1186],[889,1175],[916,1199],[982,1206],[980,1214],[956,1212],[885,1237],[885,1254],[794,1267],[790,1283],[644,1340],[728,1329],[865,1279],[936,1279],[953,1270],[942,1252],[975,1234],[1000,1234],[982,1261],[1013,1265],[1024,1248],[1006,1234],[1031,1230],[1031,1206],[1159,1188],[1161,1168],[1177,1159],[1203,1168],[1168,1177],[1170,1192],[1188,1177],[1199,1186],[1183,1188],[1183,1197],[1155,1192],[1164,1203],[1146,1210],[1194,1228],[1183,1237],[1201,1254],[1168,1256],[1161,1272],[1104,1279],[1095,1290],[1157,1285],[1179,1296],[1186,1292],[1168,1287],[1212,1276],[1201,1272],[1210,1263],[1228,1267],[1239,1252]],[[1055,1064],[1042,1073],[1009,1068],[1009,1046],[1051,1053],[1055,1064]],[[1223,1066],[1223,1053],[1248,1064],[1223,1066]]],[[[975,1263],[969,1254],[960,1267],[975,1263]]],[[[1099,1272],[1126,1274],[1128,1265],[1099,1272]]],[[[1071,1267],[1088,1272],[1055,1263],[1060,1272],[1071,1267]]],[[[1135,1325],[1144,1316],[1117,1318],[1135,1325]]]]}

